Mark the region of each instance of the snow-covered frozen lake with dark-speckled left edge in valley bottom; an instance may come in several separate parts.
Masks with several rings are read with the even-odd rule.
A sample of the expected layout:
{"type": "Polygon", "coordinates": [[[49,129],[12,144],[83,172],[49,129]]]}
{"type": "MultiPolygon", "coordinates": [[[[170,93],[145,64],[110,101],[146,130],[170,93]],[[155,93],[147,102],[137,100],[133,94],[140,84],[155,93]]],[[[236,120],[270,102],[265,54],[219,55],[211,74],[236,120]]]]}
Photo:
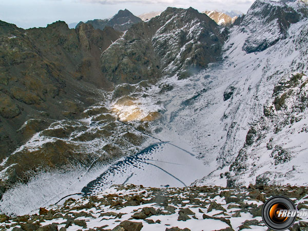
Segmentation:
{"type": "Polygon", "coordinates": [[[208,173],[193,153],[164,142],[122,158],[82,191],[86,195],[95,195],[112,184],[128,183],[146,187],[183,187],[208,173]]]}

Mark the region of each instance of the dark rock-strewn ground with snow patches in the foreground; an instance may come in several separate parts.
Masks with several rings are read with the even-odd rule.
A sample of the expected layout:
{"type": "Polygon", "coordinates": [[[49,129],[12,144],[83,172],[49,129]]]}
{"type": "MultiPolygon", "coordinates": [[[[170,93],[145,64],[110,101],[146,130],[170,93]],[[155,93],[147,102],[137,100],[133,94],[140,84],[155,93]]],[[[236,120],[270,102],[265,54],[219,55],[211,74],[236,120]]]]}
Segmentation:
{"type": "MultiPolygon", "coordinates": [[[[30,215],[2,216],[0,230],[267,230],[261,209],[277,194],[293,198],[298,210],[308,208],[308,189],[290,185],[168,189],[117,185],[92,197],[61,200],[30,215]]],[[[298,219],[288,230],[307,227],[308,219],[298,219]]]]}

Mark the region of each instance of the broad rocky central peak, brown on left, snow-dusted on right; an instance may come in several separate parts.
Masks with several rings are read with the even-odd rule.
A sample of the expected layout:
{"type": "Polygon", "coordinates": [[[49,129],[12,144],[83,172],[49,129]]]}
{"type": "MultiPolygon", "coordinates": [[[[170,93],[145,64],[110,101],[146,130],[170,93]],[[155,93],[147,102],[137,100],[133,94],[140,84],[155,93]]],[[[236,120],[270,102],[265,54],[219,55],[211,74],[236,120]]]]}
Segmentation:
{"type": "Polygon", "coordinates": [[[222,41],[220,27],[207,15],[168,7],[159,17],[131,27],[107,49],[103,72],[114,83],[138,83],[165,74],[184,78],[217,60],[222,41]]]}

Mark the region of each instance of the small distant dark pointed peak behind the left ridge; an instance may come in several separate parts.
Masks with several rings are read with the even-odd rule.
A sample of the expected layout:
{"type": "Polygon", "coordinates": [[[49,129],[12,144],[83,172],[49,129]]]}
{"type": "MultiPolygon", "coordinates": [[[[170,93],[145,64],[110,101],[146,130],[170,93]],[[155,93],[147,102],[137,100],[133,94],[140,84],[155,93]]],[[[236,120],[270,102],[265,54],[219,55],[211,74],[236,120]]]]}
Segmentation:
{"type": "MultiPolygon", "coordinates": [[[[85,24],[92,25],[94,29],[104,30],[106,26],[112,27],[114,30],[118,31],[126,31],[128,30],[133,24],[140,23],[142,20],[133,15],[129,10],[119,10],[117,14],[115,14],[110,19],[105,20],[89,20],[85,24]]],[[[76,25],[78,28],[80,25],[84,24],[80,22],[76,25]]]]}

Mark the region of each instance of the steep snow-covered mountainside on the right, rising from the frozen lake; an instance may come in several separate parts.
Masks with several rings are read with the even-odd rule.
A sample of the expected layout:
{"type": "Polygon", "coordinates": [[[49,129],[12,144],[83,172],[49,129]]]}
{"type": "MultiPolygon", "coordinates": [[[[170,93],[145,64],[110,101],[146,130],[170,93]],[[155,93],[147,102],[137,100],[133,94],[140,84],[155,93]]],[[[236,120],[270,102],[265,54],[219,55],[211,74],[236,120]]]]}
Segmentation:
{"type": "MultiPolygon", "coordinates": [[[[259,4],[259,7],[256,7],[258,2],[255,3],[248,11],[248,18],[252,17],[251,14],[257,15],[259,11],[263,12],[266,9],[272,9],[272,13],[281,12],[283,9],[290,10],[286,4],[277,2],[262,1],[259,4]]],[[[305,7],[301,2],[292,4],[293,7],[298,7],[292,8],[292,12],[305,7]]],[[[267,22],[256,20],[255,27],[273,31],[272,36],[276,39],[281,31],[275,28],[280,27],[279,22],[285,20],[283,15],[285,14],[277,14],[279,18],[272,18],[273,23],[269,25],[267,22]],[[267,28],[268,26],[270,28],[267,28]]],[[[160,119],[150,127],[155,137],[192,149],[192,153],[205,164],[204,172],[208,172],[209,175],[195,184],[232,186],[262,183],[260,179],[263,178],[259,175],[269,170],[274,172],[273,179],[266,182],[263,180],[263,183],[306,184],[304,154],[308,145],[304,142],[307,138],[304,124],[307,123],[307,81],[304,74],[296,73],[307,72],[305,41],[308,21],[304,15],[298,15],[299,22],[290,24],[286,29],[287,37],[280,37],[275,44],[259,52],[245,50],[247,45],[255,45],[256,40],[251,41],[252,37],[262,43],[263,34],[260,34],[259,30],[244,30],[249,21],[244,18],[241,25],[231,29],[229,40],[224,46],[222,62],[213,64],[207,70],[187,79],[179,80],[177,76],[162,79],[156,85],[147,88],[146,95],[143,91],[134,93],[136,98],[145,97],[151,104],[162,105],[160,119]],[[279,87],[280,85],[290,87],[279,87]],[[271,103],[287,107],[270,111],[268,115],[266,108],[271,108],[271,103]],[[292,125],[294,138],[290,137],[290,132],[282,129],[286,126],[286,118],[293,121],[286,125],[292,125]],[[277,130],[277,127],[280,130],[277,130]],[[300,131],[301,139],[298,139],[296,136],[300,131]],[[261,148],[257,149],[256,146],[266,147],[271,132],[279,134],[276,140],[271,140],[274,151],[271,149],[264,152],[261,148]],[[260,138],[259,133],[262,133],[260,138]],[[286,141],[282,139],[283,136],[288,136],[286,141]],[[288,149],[285,154],[286,160],[281,157],[284,149],[288,149]],[[284,162],[291,159],[296,167],[290,168],[290,163],[286,163],[286,168],[284,162]],[[286,175],[287,177],[275,178],[275,171],[278,171],[276,175],[281,176],[286,172],[292,173],[286,175]]],[[[268,36],[267,39],[272,40],[272,37],[268,36]]],[[[150,105],[143,103],[139,107],[146,110],[150,105]]],[[[126,113],[129,111],[126,110],[126,113]]],[[[164,147],[159,153],[163,150],[164,147]]],[[[180,155],[178,158],[181,159],[180,155]]],[[[187,162],[187,165],[188,163],[191,162],[187,162]]],[[[150,171],[148,166],[142,168],[145,172],[150,171]]],[[[196,165],[196,168],[199,167],[196,165]]],[[[170,167],[165,169],[171,170],[170,167]]],[[[268,172],[266,174],[269,175],[268,172]]],[[[194,174],[191,172],[191,175],[194,174]]],[[[192,178],[194,176],[190,177],[192,178]]],[[[143,180],[143,183],[149,184],[147,180],[143,180]]],[[[101,186],[95,188],[103,189],[101,186]]]]}

